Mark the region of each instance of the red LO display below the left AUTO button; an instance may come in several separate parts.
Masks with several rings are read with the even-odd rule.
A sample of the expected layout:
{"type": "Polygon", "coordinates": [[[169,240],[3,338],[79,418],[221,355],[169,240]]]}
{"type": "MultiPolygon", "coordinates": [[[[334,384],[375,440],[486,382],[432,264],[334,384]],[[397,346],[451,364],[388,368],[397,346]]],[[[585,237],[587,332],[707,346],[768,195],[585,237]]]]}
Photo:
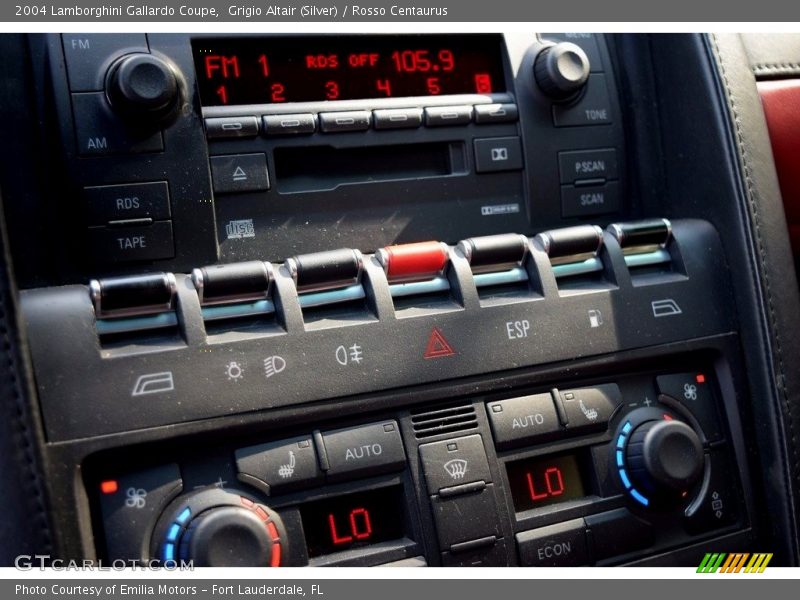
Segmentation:
{"type": "Polygon", "coordinates": [[[400,486],[356,492],[300,505],[308,556],[322,556],[405,535],[400,486]]]}

